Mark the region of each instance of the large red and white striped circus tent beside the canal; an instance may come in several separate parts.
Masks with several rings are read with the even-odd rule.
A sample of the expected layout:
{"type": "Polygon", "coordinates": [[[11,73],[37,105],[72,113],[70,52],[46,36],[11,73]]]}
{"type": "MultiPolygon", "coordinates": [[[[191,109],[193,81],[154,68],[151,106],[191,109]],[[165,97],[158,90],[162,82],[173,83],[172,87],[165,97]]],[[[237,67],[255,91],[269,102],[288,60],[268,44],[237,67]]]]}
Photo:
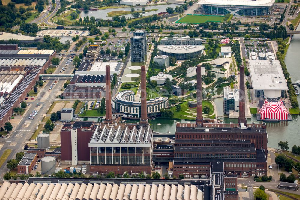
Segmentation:
{"type": "Polygon", "coordinates": [[[265,118],[287,120],[289,111],[284,106],[282,100],[278,102],[269,102],[265,100],[262,108],[259,109],[259,113],[262,120],[265,118]]]}

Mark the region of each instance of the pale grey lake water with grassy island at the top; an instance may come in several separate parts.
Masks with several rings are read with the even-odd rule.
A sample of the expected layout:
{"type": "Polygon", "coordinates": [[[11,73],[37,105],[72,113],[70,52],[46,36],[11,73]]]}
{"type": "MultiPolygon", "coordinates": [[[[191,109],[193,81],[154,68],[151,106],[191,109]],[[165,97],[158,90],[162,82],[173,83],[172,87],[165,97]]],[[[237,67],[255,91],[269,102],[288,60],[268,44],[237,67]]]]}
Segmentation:
{"type": "MultiPolygon", "coordinates": [[[[140,11],[141,11],[142,7],[143,6],[136,6],[136,7],[134,7],[134,9],[136,11],[137,11],[137,9],[140,9],[140,11]]],[[[141,13],[141,14],[143,14],[143,16],[149,16],[149,15],[154,15],[154,14],[158,14],[158,13],[161,13],[161,12],[166,12],[167,7],[175,8],[176,4],[146,6],[146,10],[151,10],[151,9],[158,9],[158,10],[157,11],[151,11],[151,12],[145,12],[145,13],[141,13]]],[[[103,10],[98,10],[98,11],[82,11],[80,16],[81,17],[94,16],[96,19],[109,20],[109,19],[112,19],[113,17],[107,17],[107,13],[112,12],[112,11],[131,11],[131,7],[130,8],[103,9],[103,10]]],[[[133,18],[133,14],[124,15],[124,16],[126,18],[128,18],[128,17],[133,18]]],[[[120,17],[122,17],[122,16],[120,16],[120,17]]]]}

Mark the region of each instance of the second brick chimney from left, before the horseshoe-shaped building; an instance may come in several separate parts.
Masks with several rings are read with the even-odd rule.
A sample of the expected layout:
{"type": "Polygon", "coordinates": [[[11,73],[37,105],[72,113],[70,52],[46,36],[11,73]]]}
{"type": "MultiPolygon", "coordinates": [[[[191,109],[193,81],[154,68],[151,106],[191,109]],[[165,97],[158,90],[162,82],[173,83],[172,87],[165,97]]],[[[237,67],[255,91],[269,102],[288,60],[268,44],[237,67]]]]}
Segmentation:
{"type": "Polygon", "coordinates": [[[141,122],[148,123],[147,92],[146,92],[146,66],[141,66],[141,122]]]}

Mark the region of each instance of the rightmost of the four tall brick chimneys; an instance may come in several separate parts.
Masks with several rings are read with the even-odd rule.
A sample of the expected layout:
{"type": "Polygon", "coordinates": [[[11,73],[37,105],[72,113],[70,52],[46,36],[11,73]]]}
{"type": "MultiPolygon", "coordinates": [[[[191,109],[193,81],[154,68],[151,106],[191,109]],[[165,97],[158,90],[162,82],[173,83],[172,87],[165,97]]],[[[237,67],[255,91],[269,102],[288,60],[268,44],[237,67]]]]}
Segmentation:
{"type": "Polygon", "coordinates": [[[244,123],[247,124],[246,114],[245,114],[245,69],[244,65],[240,66],[240,113],[238,117],[238,124],[244,123]]]}

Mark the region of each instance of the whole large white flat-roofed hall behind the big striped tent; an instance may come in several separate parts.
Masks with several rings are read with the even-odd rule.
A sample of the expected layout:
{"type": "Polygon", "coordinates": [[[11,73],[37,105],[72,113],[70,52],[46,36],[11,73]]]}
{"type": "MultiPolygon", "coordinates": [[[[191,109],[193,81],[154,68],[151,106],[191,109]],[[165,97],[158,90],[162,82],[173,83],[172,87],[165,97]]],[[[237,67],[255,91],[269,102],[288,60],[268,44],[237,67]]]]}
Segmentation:
{"type": "Polygon", "coordinates": [[[256,98],[279,100],[288,90],[279,60],[249,60],[251,83],[256,98]]]}

